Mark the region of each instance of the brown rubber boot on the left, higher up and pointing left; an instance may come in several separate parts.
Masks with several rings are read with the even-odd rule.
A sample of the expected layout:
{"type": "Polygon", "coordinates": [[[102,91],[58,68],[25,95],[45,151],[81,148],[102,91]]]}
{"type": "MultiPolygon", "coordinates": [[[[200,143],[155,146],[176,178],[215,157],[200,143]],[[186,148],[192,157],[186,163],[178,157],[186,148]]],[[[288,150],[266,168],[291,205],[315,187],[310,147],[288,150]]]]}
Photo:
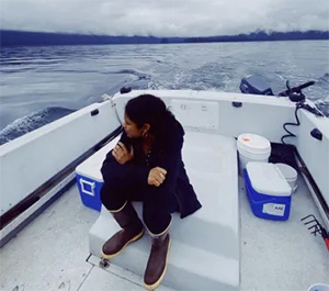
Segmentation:
{"type": "Polygon", "coordinates": [[[113,212],[113,217],[123,228],[115,233],[102,247],[102,257],[111,259],[118,255],[129,243],[136,242],[144,234],[143,223],[131,202],[118,212],[113,212]]]}

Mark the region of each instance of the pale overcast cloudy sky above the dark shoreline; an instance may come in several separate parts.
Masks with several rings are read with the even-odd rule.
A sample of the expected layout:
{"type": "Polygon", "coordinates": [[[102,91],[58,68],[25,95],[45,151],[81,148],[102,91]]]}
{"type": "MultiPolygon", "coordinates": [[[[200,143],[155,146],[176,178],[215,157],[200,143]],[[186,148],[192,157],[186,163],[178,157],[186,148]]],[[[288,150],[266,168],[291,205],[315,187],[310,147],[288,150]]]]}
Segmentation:
{"type": "Polygon", "coordinates": [[[215,36],[329,30],[329,0],[0,0],[2,30],[215,36]]]}

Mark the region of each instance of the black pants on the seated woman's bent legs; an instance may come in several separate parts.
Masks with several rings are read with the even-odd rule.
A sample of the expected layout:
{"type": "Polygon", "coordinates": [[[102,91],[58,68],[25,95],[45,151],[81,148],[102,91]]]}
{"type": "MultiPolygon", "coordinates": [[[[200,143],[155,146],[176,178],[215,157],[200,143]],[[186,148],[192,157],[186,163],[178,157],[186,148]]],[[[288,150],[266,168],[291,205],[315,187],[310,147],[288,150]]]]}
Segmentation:
{"type": "Polygon", "coordinates": [[[126,201],[143,202],[143,220],[151,235],[160,235],[171,223],[171,213],[178,211],[173,192],[167,192],[147,182],[118,187],[115,182],[104,182],[101,201],[109,211],[120,210],[126,201]]]}

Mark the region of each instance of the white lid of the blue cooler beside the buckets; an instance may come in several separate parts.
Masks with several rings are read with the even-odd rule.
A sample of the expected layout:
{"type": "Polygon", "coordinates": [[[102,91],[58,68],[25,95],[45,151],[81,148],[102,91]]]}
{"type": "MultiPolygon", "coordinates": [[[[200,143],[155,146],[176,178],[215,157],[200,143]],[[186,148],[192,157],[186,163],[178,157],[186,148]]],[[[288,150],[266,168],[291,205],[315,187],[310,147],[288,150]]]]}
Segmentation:
{"type": "Polygon", "coordinates": [[[257,192],[275,197],[292,194],[288,182],[274,164],[249,161],[246,168],[251,186],[257,192]]]}

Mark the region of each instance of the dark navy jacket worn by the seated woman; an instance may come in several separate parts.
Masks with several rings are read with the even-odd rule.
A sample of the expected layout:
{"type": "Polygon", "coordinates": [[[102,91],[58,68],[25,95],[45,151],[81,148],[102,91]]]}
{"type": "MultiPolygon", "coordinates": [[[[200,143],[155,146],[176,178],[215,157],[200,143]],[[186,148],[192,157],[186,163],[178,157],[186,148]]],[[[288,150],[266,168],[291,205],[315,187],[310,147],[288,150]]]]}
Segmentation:
{"type": "MultiPolygon", "coordinates": [[[[128,149],[131,146],[134,147],[134,158],[121,165],[114,159],[111,150],[106,155],[101,169],[104,182],[114,182],[122,187],[147,184],[148,174],[151,168],[164,168],[167,170],[164,182],[160,187],[151,186],[149,189],[161,191],[163,194],[173,193],[179,204],[181,219],[194,213],[202,205],[190,183],[182,161],[183,136],[184,130],[181,124],[174,120],[174,122],[167,127],[164,136],[162,136],[161,139],[155,139],[148,158],[141,149],[141,139],[129,138],[126,133],[123,132],[121,142],[124,143],[128,149]]],[[[172,205],[172,208],[174,208],[174,205],[172,205]]]]}

